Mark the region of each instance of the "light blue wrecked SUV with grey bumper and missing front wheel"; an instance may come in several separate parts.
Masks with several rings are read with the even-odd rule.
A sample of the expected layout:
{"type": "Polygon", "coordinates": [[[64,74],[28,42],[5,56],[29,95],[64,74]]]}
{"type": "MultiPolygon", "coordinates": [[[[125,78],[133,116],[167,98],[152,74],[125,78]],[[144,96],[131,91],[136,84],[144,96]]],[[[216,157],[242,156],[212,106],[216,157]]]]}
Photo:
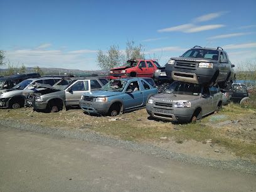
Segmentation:
{"type": "Polygon", "coordinates": [[[101,90],[84,93],[80,107],[88,114],[116,116],[144,107],[156,93],[152,78],[120,78],[110,80],[101,90]]]}

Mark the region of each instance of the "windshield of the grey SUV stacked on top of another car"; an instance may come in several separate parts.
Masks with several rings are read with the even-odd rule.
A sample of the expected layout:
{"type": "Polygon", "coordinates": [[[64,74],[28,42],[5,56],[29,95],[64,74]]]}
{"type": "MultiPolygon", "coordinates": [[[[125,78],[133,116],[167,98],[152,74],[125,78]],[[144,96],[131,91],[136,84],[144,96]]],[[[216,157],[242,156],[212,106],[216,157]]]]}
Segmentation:
{"type": "Polygon", "coordinates": [[[185,58],[205,58],[210,60],[218,60],[217,50],[191,49],[186,51],[181,57],[185,58]]]}

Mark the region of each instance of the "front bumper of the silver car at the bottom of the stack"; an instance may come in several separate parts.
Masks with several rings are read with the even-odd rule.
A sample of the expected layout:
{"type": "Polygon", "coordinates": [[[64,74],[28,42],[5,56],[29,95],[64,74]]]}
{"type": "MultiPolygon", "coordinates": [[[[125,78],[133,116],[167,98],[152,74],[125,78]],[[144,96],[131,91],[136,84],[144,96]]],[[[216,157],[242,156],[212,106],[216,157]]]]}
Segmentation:
{"type": "Polygon", "coordinates": [[[156,119],[169,120],[173,122],[189,122],[194,113],[194,108],[173,107],[173,109],[159,109],[154,104],[147,104],[146,110],[149,115],[156,119]]]}

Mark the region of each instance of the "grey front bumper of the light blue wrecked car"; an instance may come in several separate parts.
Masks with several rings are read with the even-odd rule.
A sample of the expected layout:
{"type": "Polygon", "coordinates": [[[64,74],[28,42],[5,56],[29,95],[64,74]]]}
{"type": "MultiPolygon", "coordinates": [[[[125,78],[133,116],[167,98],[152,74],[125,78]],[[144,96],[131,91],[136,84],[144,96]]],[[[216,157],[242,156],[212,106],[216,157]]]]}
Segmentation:
{"type": "Polygon", "coordinates": [[[110,103],[109,102],[89,102],[89,101],[80,101],[79,106],[82,110],[88,114],[98,114],[105,115],[109,112],[110,103]]]}

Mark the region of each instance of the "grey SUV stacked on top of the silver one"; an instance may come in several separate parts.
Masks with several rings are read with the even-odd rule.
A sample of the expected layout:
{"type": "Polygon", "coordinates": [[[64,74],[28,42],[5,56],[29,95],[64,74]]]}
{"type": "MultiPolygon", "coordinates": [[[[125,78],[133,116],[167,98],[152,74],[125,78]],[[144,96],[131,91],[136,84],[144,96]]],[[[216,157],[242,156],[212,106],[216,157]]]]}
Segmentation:
{"type": "Polygon", "coordinates": [[[178,58],[171,58],[166,65],[166,75],[173,80],[189,83],[216,83],[225,88],[235,78],[228,54],[221,47],[194,46],[178,58]]]}

